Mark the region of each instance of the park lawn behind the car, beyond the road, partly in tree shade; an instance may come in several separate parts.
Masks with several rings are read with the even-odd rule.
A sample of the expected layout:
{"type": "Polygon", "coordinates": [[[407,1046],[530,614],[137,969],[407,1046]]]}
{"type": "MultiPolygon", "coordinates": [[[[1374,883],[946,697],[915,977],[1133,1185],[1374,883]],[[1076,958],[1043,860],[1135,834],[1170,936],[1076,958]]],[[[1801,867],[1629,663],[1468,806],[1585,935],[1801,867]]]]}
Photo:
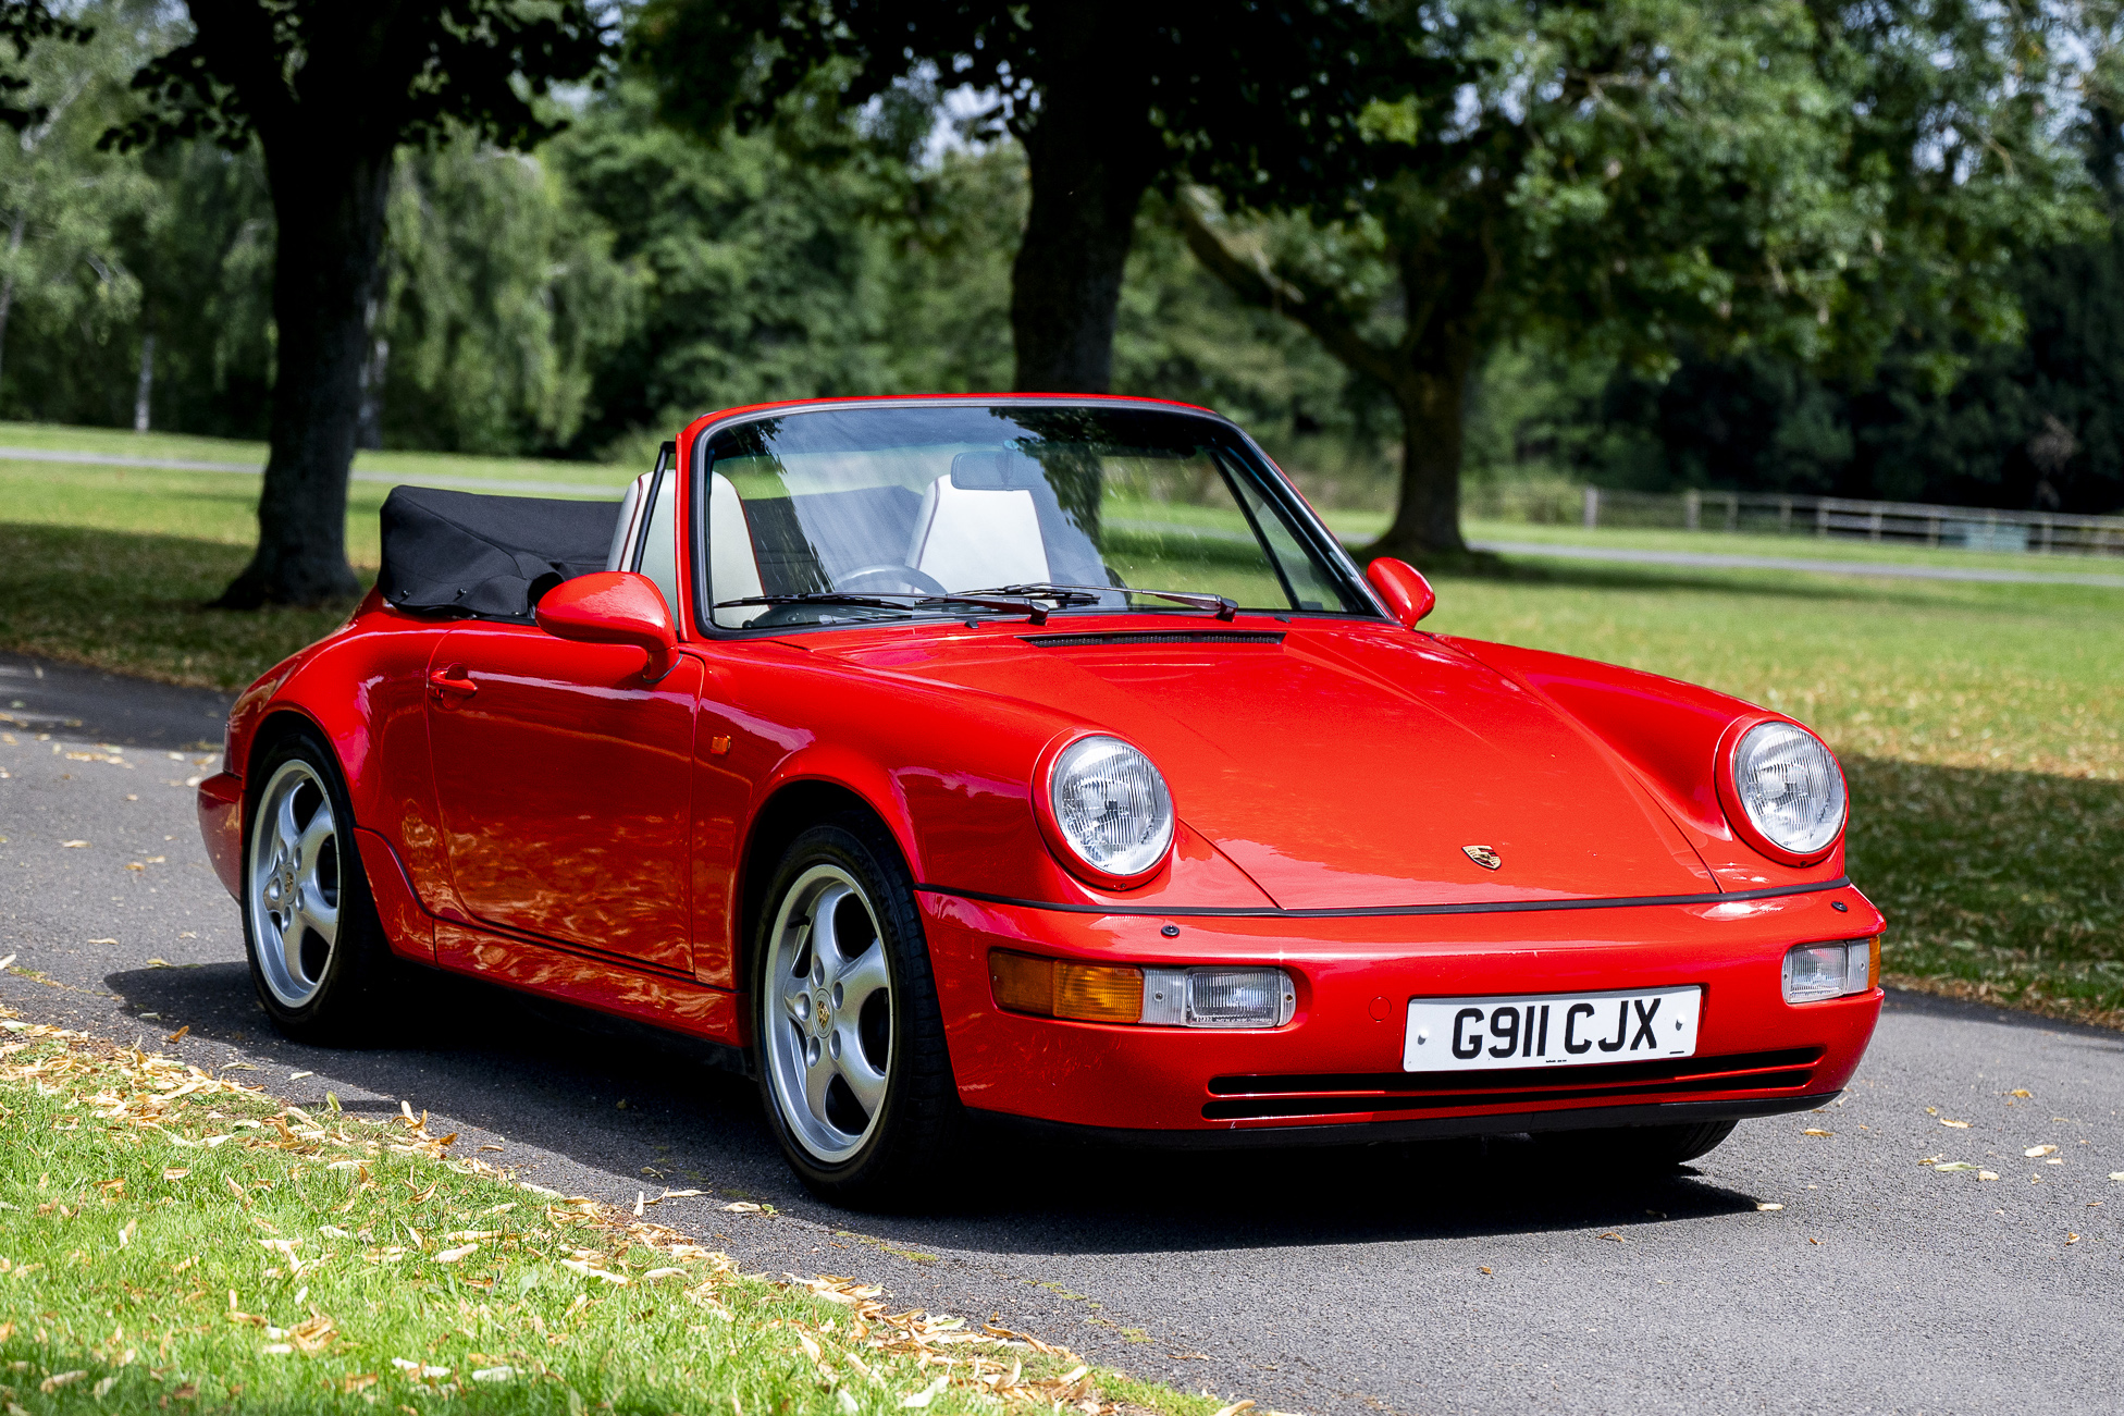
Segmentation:
{"type": "MultiPolygon", "coordinates": [[[[28,425],[0,425],[23,446],[28,425]]],[[[125,451],[132,434],[34,429],[125,451]]],[[[159,446],[159,444],[157,444],[159,446]]],[[[223,444],[215,444],[221,449],[223,444]]],[[[232,444],[234,446],[234,444],[232,444]]],[[[157,455],[208,457],[200,440],[157,455]]],[[[261,449],[253,449],[259,455],[261,449]]],[[[221,453],[227,455],[227,453],[221,453]]],[[[399,455],[408,476],[593,481],[620,468],[399,455]]],[[[376,561],[384,489],[355,483],[348,549],[376,561]]],[[[255,483],[229,474],[0,459],[0,646],[234,689],[336,612],[200,610],[249,555],[255,483]]],[[[1134,519],[1236,529],[1170,504],[1134,519]]],[[[1342,523],[1344,534],[1368,527],[1342,523]]],[[[1376,527],[1372,527],[1376,529],[1376,527]]],[[[1470,527],[1474,536],[1650,549],[2109,572],[2109,561],[1973,555],[1723,532],[1470,527]]],[[[1143,540],[1130,536],[1132,542],[1143,540]]],[[[1141,546],[1134,546],[1141,551],[1141,546]]],[[[1198,546],[1204,555],[1215,546],[1198,546]]],[[[2124,574],[2124,566],[2118,568],[2124,574]]],[[[1149,576],[1147,570],[1138,578],[1149,576]]],[[[1890,914],[1905,984],[2124,1025],[2124,595],[2069,585],[1589,566],[1440,578],[1449,634],[1646,668],[1782,708],[1852,776],[1850,870],[1890,914]]]]}

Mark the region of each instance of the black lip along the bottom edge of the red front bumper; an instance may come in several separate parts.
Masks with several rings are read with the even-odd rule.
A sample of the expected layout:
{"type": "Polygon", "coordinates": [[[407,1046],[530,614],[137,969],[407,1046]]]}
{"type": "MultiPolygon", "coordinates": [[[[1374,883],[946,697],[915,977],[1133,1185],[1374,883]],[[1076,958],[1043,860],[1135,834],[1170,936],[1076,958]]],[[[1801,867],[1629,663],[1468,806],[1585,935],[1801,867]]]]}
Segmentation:
{"type": "Polygon", "coordinates": [[[1073,1127],[1060,1120],[1009,1116],[969,1108],[966,1114],[992,1129],[1028,1140],[1062,1144],[1141,1146],[1149,1150],[1257,1150],[1285,1146],[1374,1146],[1404,1140],[1451,1140],[1457,1135],[1527,1135],[1538,1131],[1601,1131],[1610,1127],[1680,1127],[1706,1120],[1750,1120],[1812,1112],[1835,1101],[1842,1091],[1805,1097],[1761,1097],[1748,1101],[1646,1101],[1638,1106],[1572,1106],[1553,1112],[1504,1112],[1495,1116],[1423,1116],[1410,1120],[1330,1120],[1200,1131],[1134,1131],[1124,1127],[1073,1127]]]}

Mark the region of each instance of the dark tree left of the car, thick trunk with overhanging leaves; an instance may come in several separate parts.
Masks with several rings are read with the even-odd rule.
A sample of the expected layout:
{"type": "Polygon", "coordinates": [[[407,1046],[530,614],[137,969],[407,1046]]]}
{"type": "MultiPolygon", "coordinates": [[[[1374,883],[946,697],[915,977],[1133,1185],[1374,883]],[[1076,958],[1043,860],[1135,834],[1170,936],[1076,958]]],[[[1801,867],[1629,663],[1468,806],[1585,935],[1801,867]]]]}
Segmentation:
{"type": "Polygon", "coordinates": [[[359,593],[346,474],[393,157],[459,123],[520,147],[537,102],[605,51],[588,0],[189,0],[193,36],[134,79],[149,117],[119,147],[257,140],[276,217],[276,374],[259,544],[225,608],[359,593]]]}

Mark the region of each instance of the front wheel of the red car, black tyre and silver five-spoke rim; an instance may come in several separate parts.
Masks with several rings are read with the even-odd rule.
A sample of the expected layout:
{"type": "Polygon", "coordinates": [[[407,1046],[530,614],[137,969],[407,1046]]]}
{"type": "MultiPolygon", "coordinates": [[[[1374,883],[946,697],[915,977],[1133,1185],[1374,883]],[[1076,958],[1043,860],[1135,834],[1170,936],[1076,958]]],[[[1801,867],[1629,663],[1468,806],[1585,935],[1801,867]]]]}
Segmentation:
{"type": "Polygon", "coordinates": [[[752,948],[752,1035],[767,1123],[813,1195],[898,1208],[941,1171],[962,1120],[958,1086],[913,878],[873,819],[809,827],[782,855],[752,948]],[[843,982],[869,989],[845,995],[850,1010],[843,982]],[[826,1074],[813,1106],[811,1082],[826,1074]]]}

